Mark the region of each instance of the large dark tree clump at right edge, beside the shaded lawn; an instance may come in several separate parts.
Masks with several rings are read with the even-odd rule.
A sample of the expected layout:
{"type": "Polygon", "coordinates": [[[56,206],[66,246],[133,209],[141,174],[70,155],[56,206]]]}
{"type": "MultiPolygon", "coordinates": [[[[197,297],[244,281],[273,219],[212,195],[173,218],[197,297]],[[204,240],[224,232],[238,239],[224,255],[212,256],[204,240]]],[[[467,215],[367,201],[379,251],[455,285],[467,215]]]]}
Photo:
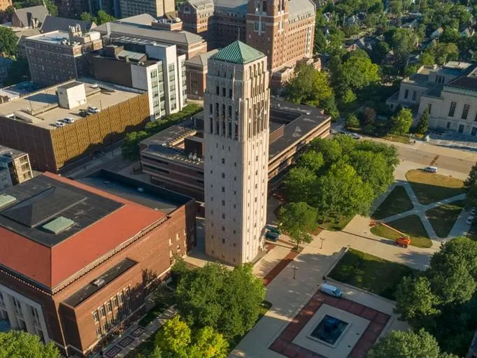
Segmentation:
{"type": "Polygon", "coordinates": [[[477,322],[477,242],[459,237],[443,243],[429,268],[404,278],[396,312],[414,329],[424,328],[441,348],[465,355],[477,322]]]}

